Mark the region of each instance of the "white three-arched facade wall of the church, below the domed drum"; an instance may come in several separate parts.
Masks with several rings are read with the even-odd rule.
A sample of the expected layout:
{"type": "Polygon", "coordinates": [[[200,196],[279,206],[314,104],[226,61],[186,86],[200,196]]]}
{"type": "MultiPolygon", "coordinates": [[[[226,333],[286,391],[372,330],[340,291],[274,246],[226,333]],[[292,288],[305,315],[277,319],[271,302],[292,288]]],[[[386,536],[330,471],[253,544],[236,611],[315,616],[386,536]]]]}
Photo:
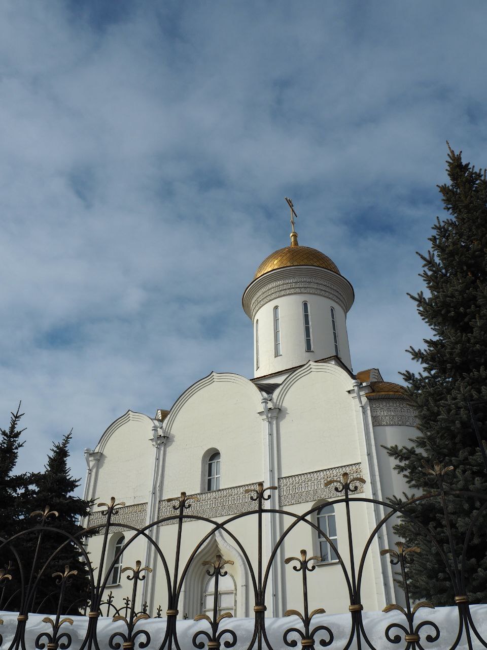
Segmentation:
{"type": "MultiPolygon", "coordinates": [[[[358,496],[370,495],[362,420],[358,401],[353,396],[353,378],[349,373],[334,363],[310,362],[290,374],[275,391],[273,400],[267,404],[267,415],[263,402],[265,399],[253,383],[230,373],[212,373],[185,391],[160,428],[158,475],[162,479],[155,492],[154,422],[142,414],[125,414],[108,428],[95,450],[95,454],[101,454],[101,458],[98,461],[97,480],[93,482],[96,486],[94,496],[103,496],[102,500],[105,501],[112,495],[125,500],[124,521],[142,527],[151,499],[156,498],[160,503],[159,516],[166,516],[173,512],[166,499],[177,497],[181,491],[199,497],[188,514],[218,521],[223,521],[232,513],[242,512],[244,504],[249,504],[245,487],[255,486],[259,481],[263,481],[265,486],[269,483],[279,485],[279,495],[272,493],[275,507],[297,514],[305,513],[317,504],[339,500],[342,495],[336,494],[332,487],[325,488],[325,482],[330,477],[340,478],[344,469],[351,476],[364,476],[367,483],[360,487],[363,491],[359,491],[358,496]],[[202,463],[202,459],[212,449],[221,452],[221,489],[205,493],[205,463],[202,463]]],[[[379,439],[382,439],[380,432],[377,441],[379,439]]],[[[385,462],[381,457],[381,467],[385,462]]],[[[392,480],[390,465],[384,466],[381,473],[392,480]]],[[[356,503],[352,509],[358,564],[375,521],[369,506],[356,503]]],[[[264,559],[268,558],[271,547],[277,543],[291,520],[284,516],[275,517],[274,528],[270,526],[270,521],[271,517],[264,516],[264,559]]],[[[336,506],[336,521],[338,548],[340,552],[343,551],[343,558],[348,564],[343,504],[336,506]]],[[[205,521],[184,524],[181,571],[198,541],[204,539],[210,530],[210,525],[205,521]]],[[[253,567],[256,567],[255,515],[238,519],[230,530],[248,552],[253,567]]],[[[110,534],[112,543],[120,531],[121,528],[114,528],[110,534]]],[[[132,535],[127,530],[124,534],[127,540],[132,535]]],[[[176,535],[177,525],[158,526],[154,534],[155,541],[166,556],[170,575],[174,568],[176,535]]],[[[88,549],[97,565],[101,538],[90,538],[88,549]]],[[[266,595],[269,615],[272,615],[271,603],[276,615],[282,615],[286,608],[295,605],[297,608],[300,593],[297,578],[292,568],[284,565],[284,558],[299,556],[301,549],[305,549],[308,556],[318,552],[316,532],[306,523],[299,524],[293,530],[276,556],[275,570],[269,576],[266,595]]],[[[206,580],[201,562],[214,559],[217,552],[234,562],[228,569],[236,584],[237,615],[251,616],[253,591],[249,569],[238,544],[223,532],[210,536],[192,563],[182,588],[180,617],[184,614],[194,617],[200,613],[200,599],[206,580]]],[[[136,560],[147,562],[154,569],[147,579],[140,604],[145,600],[149,610],[155,610],[158,604],[164,610],[167,606],[164,568],[155,554],[152,557],[147,554],[147,543],[140,538],[127,549],[123,565],[134,566],[136,560]]],[[[323,606],[328,612],[347,610],[348,595],[341,574],[339,565],[317,563],[308,585],[310,606],[323,606]],[[329,597],[327,594],[330,592],[324,587],[331,583],[334,585],[334,597],[329,597]]],[[[382,576],[378,549],[373,545],[364,567],[362,591],[362,600],[368,608],[380,609],[384,606],[382,580],[390,580],[390,576],[382,576]]],[[[128,593],[129,586],[124,574],[121,586],[111,587],[118,604],[128,593]]]]}

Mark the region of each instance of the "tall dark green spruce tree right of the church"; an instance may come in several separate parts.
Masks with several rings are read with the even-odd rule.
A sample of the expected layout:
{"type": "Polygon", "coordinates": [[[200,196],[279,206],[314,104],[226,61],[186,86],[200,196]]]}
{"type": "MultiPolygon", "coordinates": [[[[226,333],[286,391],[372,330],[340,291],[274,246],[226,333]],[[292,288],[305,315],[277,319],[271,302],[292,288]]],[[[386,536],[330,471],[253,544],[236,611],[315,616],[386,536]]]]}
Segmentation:
{"type": "MultiPolygon", "coordinates": [[[[438,186],[447,216],[432,227],[430,250],[422,255],[426,291],[410,298],[432,336],[421,349],[408,350],[421,364],[417,374],[405,372],[407,393],[418,411],[421,432],[410,444],[388,449],[397,460],[411,490],[405,498],[432,492],[435,485],[424,463],[452,465],[445,475],[452,489],[480,492],[487,497],[487,469],[473,430],[469,402],[475,402],[482,441],[487,433],[487,179],[485,170],[462,162],[462,152],[450,146],[449,183],[438,186]]],[[[482,444],[485,444],[482,442],[482,444]]],[[[401,502],[401,499],[395,499],[401,502]]],[[[482,501],[449,496],[453,538],[458,558],[468,525],[482,501]]],[[[440,542],[451,562],[443,510],[438,500],[419,502],[416,518],[440,542]]],[[[487,518],[474,528],[468,547],[467,595],[471,603],[487,603],[487,518]]],[[[397,534],[421,553],[408,567],[410,593],[434,604],[453,604],[454,592],[445,566],[431,541],[403,518],[397,534]]]]}

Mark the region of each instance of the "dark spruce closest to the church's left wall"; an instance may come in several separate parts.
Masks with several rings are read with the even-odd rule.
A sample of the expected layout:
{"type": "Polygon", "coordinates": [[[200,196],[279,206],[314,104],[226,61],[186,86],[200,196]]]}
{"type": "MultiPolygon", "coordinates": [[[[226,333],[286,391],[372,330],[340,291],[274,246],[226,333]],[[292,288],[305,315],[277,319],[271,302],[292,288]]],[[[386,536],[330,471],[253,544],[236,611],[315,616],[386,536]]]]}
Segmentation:
{"type": "MultiPolygon", "coordinates": [[[[82,541],[82,538],[79,537],[82,530],[79,526],[79,519],[88,513],[90,503],[73,495],[81,480],[73,478],[68,467],[70,441],[71,432],[64,435],[60,443],[53,443],[44,472],[34,475],[37,490],[34,499],[32,499],[34,506],[32,510],[44,512],[45,506],[49,506],[49,510],[57,512],[57,516],[49,518],[48,528],[60,528],[65,533],[82,541]]],[[[44,533],[38,569],[65,540],[66,538],[59,534],[44,533]]],[[[70,578],[66,587],[63,613],[75,614],[84,604],[88,585],[88,569],[75,543],[69,541],[60,551],[56,552],[55,557],[45,569],[42,580],[36,589],[33,608],[40,607],[42,612],[56,610],[58,590],[52,574],[64,573],[66,565],[69,566],[69,571],[77,571],[77,574],[70,578]]]]}

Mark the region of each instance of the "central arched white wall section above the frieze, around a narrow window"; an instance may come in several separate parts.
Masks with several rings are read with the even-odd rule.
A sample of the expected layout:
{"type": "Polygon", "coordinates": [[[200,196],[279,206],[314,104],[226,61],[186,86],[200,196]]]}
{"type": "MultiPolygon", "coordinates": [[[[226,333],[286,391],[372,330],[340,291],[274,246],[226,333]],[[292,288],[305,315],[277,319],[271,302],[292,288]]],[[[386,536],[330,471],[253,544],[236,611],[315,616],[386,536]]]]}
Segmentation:
{"type": "Polygon", "coordinates": [[[210,451],[221,455],[219,489],[263,476],[261,399],[252,382],[231,372],[212,372],[184,391],[162,423],[164,493],[206,492],[210,451]]]}

